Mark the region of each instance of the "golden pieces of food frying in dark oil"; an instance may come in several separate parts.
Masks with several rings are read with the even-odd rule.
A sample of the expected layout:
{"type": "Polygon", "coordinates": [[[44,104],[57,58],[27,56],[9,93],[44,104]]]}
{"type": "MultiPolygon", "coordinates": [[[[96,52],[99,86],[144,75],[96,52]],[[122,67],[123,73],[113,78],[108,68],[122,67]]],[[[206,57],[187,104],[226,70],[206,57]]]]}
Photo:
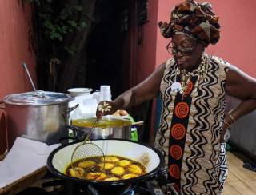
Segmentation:
{"type": "Polygon", "coordinates": [[[87,157],[68,166],[66,174],[94,181],[118,181],[139,177],[146,173],[141,163],[118,156],[87,157]],[[90,169],[94,167],[94,169],[90,169]]]}

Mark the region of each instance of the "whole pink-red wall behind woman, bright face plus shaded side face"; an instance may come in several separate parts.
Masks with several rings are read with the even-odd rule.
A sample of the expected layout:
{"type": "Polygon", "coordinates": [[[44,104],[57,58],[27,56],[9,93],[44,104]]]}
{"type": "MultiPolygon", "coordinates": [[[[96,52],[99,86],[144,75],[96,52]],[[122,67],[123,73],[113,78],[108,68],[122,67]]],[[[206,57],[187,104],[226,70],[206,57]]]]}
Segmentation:
{"type": "MultiPolygon", "coordinates": [[[[156,66],[166,62],[171,58],[166,51],[166,45],[170,40],[163,38],[158,30],[159,21],[170,20],[170,10],[180,0],[149,0],[149,22],[144,28],[143,46],[138,46],[134,50],[136,56],[131,71],[133,85],[141,82],[156,66]]],[[[198,2],[203,2],[198,0],[198,2]]],[[[204,1],[206,2],[206,1],[204,1]]],[[[238,66],[250,76],[256,77],[256,12],[254,7],[256,1],[232,1],[232,0],[207,0],[211,2],[215,12],[220,16],[222,26],[221,39],[215,46],[209,46],[206,50],[208,54],[218,55],[226,61],[238,66]]],[[[136,31],[136,30],[135,30],[136,31]]],[[[135,32],[138,36],[138,31],[135,32]]],[[[135,37],[136,37],[135,36],[135,37]]],[[[152,128],[155,124],[155,104],[152,110],[152,128]]]]}

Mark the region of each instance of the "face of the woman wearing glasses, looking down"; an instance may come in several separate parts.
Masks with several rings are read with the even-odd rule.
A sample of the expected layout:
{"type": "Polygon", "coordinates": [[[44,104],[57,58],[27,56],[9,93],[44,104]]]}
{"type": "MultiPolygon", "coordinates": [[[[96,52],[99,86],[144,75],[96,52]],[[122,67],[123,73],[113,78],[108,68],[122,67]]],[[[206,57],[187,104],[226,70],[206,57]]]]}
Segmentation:
{"type": "Polygon", "coordinates": [[[181,69],[194,70],[201,62],[204,46],[186,34],[174,34],[171,44],[172,54],[181,69]]]}

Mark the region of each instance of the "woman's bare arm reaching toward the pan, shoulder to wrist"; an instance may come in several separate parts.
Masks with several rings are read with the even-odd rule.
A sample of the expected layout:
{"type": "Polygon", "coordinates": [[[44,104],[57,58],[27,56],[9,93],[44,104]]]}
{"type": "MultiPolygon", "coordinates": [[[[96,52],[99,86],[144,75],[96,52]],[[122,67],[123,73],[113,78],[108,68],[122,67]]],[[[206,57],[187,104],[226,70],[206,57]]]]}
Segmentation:
{"type": "MultiPolygon", "coordinates": [[[[123,94],[119,95],[118,98],[115,98],[114,101],[105,101],[107,105],[110,105],[111,108],[104,112],[106,114],[112,114],[118,109],[129,109],[134,105],[138,105],[143,101],[148,101],[157,97],[158,90],[160,89],[160,83],[164,70],[166,68],[166,63],[158,66],[156,70],[143,82],[139,83],[137,86],[134,86],[130,90],[127,90],[123,94]]],[[[104,102],[100,102],[99,105],[103,105],[104,102]]],[[[97,116],[99,114],[97,110],[97,116]]]]}

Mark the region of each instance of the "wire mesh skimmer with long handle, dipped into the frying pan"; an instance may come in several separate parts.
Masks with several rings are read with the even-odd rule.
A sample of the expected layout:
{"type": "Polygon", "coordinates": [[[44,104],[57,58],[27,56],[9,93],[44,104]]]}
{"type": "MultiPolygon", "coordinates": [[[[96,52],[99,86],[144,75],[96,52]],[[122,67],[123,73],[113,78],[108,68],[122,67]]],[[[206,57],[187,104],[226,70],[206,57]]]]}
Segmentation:
{"type": "MultiPolygon", "coordinates": [[[[80,145],[77,145],[74,149],[74,152],[71,156],[71,166],[74,167],[74,163],[78,160],[85,159],[87,157],[102,157],[99,159],[99,161],[96,162],[95,165],[89,166],[87,169],[85,169],[85,173],[91,173],[94,172],[96,169],[96,166],[100,162],[104,162],[104,153],[102,152],[102,149],[98,147],[98,145],[95,145],[93,142],[90,141],[90,135],[93,133],[96,123],[100,120],[101,117],[98,117],[94,121],[93,127],[90,129],[90,132],[87,134],[86,138],[80,145]]],[[[105,165],[105,164],[104,164],[105,165]]],[[[104,167],[102,167],[102,170],[104,170],[104,167]]]]}

